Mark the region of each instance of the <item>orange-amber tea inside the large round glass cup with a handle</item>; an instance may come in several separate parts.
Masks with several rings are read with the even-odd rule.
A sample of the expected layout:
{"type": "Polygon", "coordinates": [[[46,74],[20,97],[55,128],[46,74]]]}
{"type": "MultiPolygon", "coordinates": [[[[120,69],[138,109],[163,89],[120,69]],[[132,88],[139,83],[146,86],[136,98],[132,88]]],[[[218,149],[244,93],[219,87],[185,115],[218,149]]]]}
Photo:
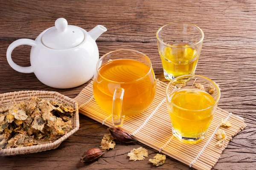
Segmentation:
{"type": "Polygon", "coordinates": [[[93,94],[97,104],[112,113],[113,94],[116,88],[125,90],[122,113],[134,116],[144,111],[156,93],[154,74],[148,74],[148,65],[132,59],[116,59],[103,64],[94,77],[93,94]],[[146,75],[146,76],[145,76],[146,75]]]}

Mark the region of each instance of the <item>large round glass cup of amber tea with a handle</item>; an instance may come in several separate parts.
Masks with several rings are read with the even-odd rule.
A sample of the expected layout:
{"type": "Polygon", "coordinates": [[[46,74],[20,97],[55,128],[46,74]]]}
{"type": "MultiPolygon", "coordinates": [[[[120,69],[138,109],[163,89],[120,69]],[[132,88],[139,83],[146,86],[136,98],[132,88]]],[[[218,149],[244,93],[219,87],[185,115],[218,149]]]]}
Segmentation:
{"type": "Polygon", "coordinates": [[[153,102],[156,80],[150,59],[134,50],[103,55],[93,78],[93,95],[103,111],[112,114],[113,125],[125,116],[143,112],[153,102]]]}

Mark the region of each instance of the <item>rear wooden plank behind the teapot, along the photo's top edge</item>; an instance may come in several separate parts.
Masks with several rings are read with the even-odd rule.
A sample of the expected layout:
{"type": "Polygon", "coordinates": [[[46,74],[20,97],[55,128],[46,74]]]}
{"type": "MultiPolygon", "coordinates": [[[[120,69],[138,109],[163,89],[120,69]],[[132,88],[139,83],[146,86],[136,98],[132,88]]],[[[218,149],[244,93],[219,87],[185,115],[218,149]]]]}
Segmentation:
{"type": "Polygon", "coordinates": [[[156,31],[172,22],[194,23],[204,42],[254,44],[256,1],[236,0],[48,0],[1,1],[0,39],[35,39],[59,17],[89,31],[101,24],[108,31],[98,41],[156,42],[156,31]],[[46,5],[47,4],[47,5],[46,5]]]}

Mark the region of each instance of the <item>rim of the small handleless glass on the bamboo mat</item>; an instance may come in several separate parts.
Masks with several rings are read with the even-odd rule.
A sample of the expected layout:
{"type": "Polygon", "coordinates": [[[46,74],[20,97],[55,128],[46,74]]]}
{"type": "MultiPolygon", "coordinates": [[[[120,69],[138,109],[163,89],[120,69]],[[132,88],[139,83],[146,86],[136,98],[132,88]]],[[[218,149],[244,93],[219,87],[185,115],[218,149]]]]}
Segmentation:
{"type": "Polygon", "coordinates": [[[209,108],[212,108],[212,107],[214,107],[218,103],[219,99],[221,98],[221,90],[218,87],[218,85],[214,81],[212,81],[211,79],[209,79],[209,78],[207,78],[205,76],[198,75],[198,74],[187,74],[187,75],[179,76],[179,77],[176,77],[175,79],[172,79],[172,81],[170,81],[168,83],[168,85],[166,86],[166,99],[167,99],[167,102],[169,102],[169,95],[168,95],[169,86],[172,84],[172,82],[174,82],[175,80],[180,79],[182,77],[201,77],[201,78],[207,79],[209,82],[212,83],[212,85],[215,86],[215,89],[218,91],[217,92],[218,93],[218,98],[215,100],[215,103],[213,105],[209,106],[208,108],[204,108],[204,109],[200,109],[200,110],[185,109],[185,108],[182,108],[180,106],[175,105],[174,103],[172,103],[172,105],[174,105],[175,107],[177,107],[179,109],[182,109],[184,111],[194,111],[194,112],[196,111],[197,112],[197,111],[204,111],[204,110],[207,110],[209,108]]]}

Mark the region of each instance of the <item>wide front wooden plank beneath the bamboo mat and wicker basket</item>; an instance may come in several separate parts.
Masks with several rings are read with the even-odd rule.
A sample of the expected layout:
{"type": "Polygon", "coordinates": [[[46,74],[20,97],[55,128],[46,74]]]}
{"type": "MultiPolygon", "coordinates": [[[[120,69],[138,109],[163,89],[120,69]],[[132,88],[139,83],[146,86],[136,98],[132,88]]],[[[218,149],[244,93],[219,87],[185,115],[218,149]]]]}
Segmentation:
{"type": "MultiPolygon", "coordinates": [[[[47,90],[58,91],[69,97],[75,97],[84,85],[72,89],[50,88],[35,77],[34,74],[22,74],[13,70],[6,60],[6,49],[12,41],[0,41],[0,77],[4,81],[0,82],[0,93],[20,90],[47,90]],[[29,81],[28,81],[29,80],[29,81]]],[[[100,56],[120,48],[130,48],[142,51],[147,54],[152,61],[156,78],[168,82],[163,77],[163,68],[157,51],[155,42],[97,42],[100,56]]],[[[14,61],[23,66],[29,65],[29,46],[21,46],[13,52],[14,61]]],[[[246,169],[256,166],[256,113],[255,113],[255,84],[256,75],[256,45],[237,45],[237,44],[215,44],[204,43],[201,56],[198,62],[196,74],[203,74],[221,86],[221,100],[219,107],[243,116],[248,127],[239,136],[230,142],[227,149],[214,169],[234,166],[246,169]],[[245,160],[245,161],[244,161],[245,160]],[[232,164],[231,164],[232,162],[232,164]],[[236,163],[239,162],[239,163],[236,163]],[[242,162],[242,163],[240,163],[242,162]]],[[[133,148],[143,146],[149,150],[150,156],[154,156],[157,151],[140,145],[119,144],[113,151],[108,151],[99,161],[84,166],[79,163],[82,153],[90,147],[97,147],[106,127],[93,120],[80,115],[80,129],[75,135],[63,142],[56,150],[29,155],[8,156],[0,160],[0,167],[12,169],[15,166],[19,169],[35,168],[43,166],[49,168],[81,168],[88,169],[141,169],[154,168],[148,164],[148,159],[144,161],[129,161],[127,153],[133,148]],[[35,157],[35,158],[34,158],[35,157]],[[30,158],[30,159],[28,159],[30,158]],[[34,158],[34,159],[32,159],[34,158]],[[26,161],[26,165],[23,162],[26,161]],[[46,162],[51,162],[46,164],[46,162]]],[[[166,164],[158,169],[189,169],[186,165],[168,158],[166,164]]]]}

